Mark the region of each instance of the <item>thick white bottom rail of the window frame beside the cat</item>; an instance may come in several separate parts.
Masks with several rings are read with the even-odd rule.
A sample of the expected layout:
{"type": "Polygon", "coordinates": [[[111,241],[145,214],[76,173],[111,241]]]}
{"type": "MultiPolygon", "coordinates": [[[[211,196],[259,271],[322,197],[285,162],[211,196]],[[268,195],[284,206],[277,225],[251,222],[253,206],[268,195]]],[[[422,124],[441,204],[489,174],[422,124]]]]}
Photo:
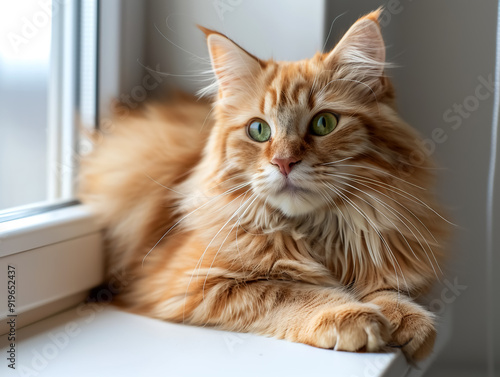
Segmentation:
{"type": "Polygon", "coordinates": [[[1,223],[4,289],[8,266],[15,269],[15,313],[8,312],[7,298],[0,295],[0,335],[8,331],[7,314],[17,315],[20,328],[75,305],[102,283],[101,231],[82,205],[1,223]]]}

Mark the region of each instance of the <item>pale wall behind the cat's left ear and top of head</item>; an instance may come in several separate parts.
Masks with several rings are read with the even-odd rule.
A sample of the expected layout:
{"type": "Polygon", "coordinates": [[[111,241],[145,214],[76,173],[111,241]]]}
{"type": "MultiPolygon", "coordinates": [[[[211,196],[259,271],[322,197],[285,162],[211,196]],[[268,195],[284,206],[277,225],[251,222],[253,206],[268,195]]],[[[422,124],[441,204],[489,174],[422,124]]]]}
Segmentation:
{"type": "Polygon", "coordinates": [[[261,58],[298,60],[322,48],[324,0],[151,0],[148,65],[171,75],[162,84],[196,91],[210,81],[205,36],[197,24],[226,34],[261,58]],[[218,4],[217,6],[215,4],[218,4]],[[163,34],[163,35],[162,35],[163,34]],[[168,40],[167,40],[168,39],[168,40]]]}

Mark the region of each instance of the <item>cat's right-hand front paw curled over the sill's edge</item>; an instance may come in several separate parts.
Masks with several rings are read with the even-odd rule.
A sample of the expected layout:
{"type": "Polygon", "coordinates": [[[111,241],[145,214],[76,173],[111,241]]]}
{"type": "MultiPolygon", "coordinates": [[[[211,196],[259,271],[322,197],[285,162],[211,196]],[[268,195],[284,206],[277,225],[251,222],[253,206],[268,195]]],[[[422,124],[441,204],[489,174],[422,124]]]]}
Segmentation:
{"type": "Polygon", "coordinates": [[[436,339],[435,316],[403,293],[377,290],[365,295],[364,303],[380,307],[391,323],[389,344],[401,347],[412,360],[419,361],[432,352],[436,339]]]}

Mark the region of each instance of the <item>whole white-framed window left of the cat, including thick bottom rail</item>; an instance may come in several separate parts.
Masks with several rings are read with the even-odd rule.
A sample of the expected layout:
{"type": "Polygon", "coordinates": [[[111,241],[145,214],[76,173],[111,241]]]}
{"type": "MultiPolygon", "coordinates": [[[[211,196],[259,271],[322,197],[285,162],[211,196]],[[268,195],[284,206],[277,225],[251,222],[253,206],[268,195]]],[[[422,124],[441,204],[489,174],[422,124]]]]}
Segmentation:
{"type": "Polygon", "coordinates": [[[0,13],[0,282],[14,266],[19,327],[103,277],[100,230],[75,200],[80,131],[96,125],[98,5],[24,0],[0,13]]]}

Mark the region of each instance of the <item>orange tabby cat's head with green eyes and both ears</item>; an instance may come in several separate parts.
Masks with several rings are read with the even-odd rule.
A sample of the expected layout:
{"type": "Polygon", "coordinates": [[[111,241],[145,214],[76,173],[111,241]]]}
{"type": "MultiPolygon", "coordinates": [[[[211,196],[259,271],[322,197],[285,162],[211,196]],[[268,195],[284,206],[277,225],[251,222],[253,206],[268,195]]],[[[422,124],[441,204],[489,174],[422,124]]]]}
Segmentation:
{"type": "Polygon", "coordinates": [[[208,153],[222,178],[239,175],[300,216],[356,195],[356,178],[409,164],[419,147],[394,110],[379,14],[360,18],[332,51],[297,62],[261,60],[204,29],[218,86],[208,153]]]}

